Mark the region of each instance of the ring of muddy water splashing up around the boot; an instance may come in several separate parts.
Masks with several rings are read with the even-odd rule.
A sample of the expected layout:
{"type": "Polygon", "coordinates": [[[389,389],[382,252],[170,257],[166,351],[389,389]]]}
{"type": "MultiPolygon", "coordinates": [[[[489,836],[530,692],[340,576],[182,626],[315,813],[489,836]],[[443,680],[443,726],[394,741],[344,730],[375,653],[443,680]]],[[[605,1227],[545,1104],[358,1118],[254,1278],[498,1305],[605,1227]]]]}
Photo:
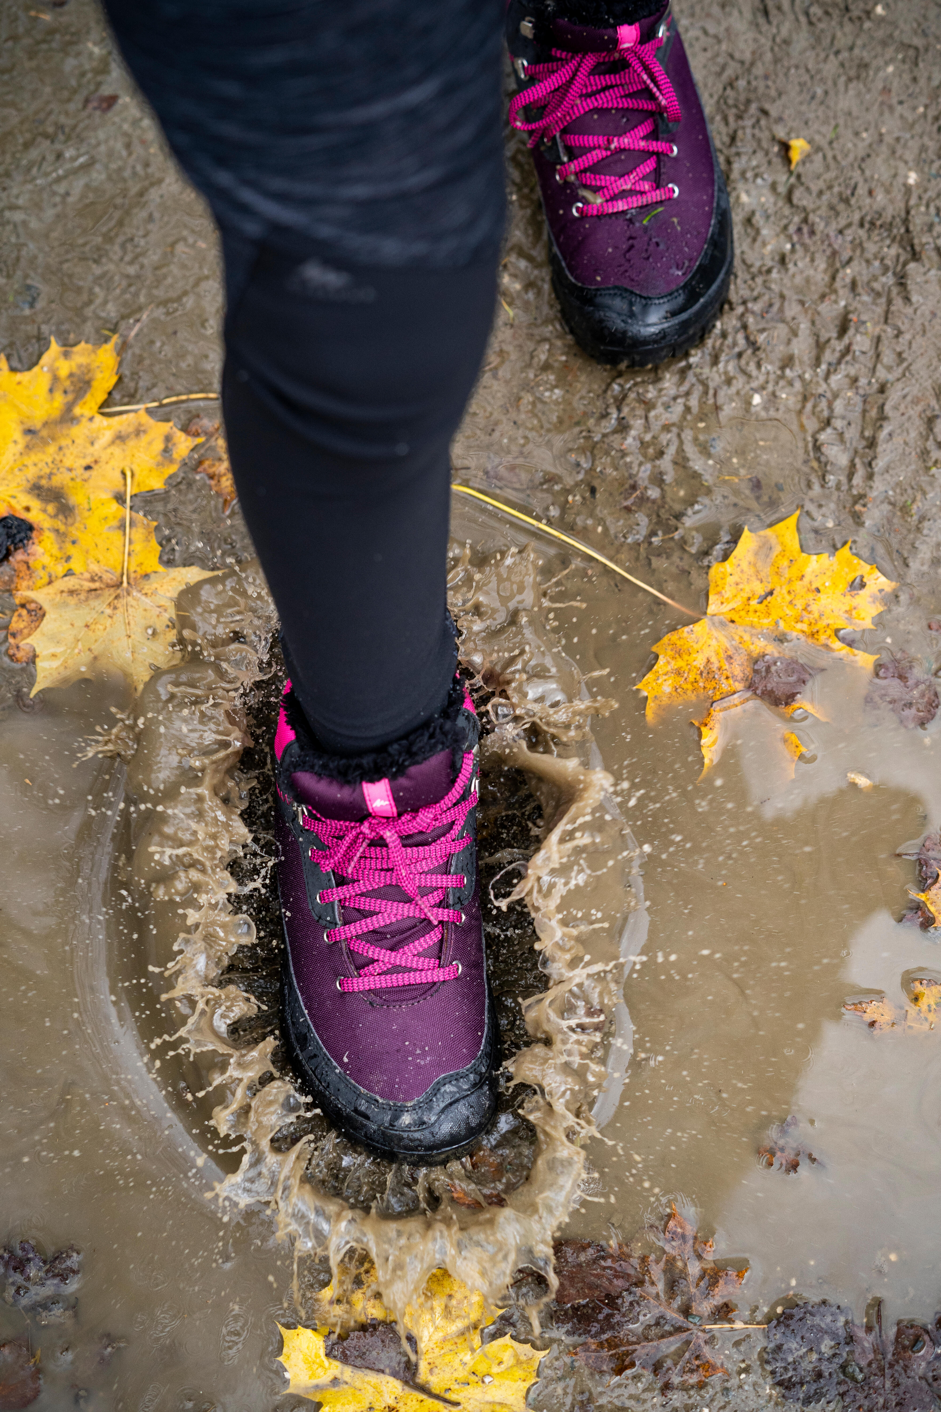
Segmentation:
{"type": "MultiPolygon", "coordinates": [[[[459,1163],[419,1172],[420,1200],[408,1214],[391,1214],[384,1202],[361,1209],[319,1185],[312,1158],[343,1139],[324,1134],[282,1065],[274,994],[265,1001],[237,983],[234,962],[244,964],[258,935],[238,909],[233,863],[265,849],[243,819],[254,781],[241,760],[253,693],[275,685],[275,620],[257,568],[221,573],[181,597],[185,659],[158,672],[135,714],[95,744],[127,760],[124,875],[147,928],[147,963],[172,980],[164,998],[183,1019],[169,1043],[155,1028],[154,1062],[164,1077],[168,1067],[182,1076],[175,1091],[185,1091],[190,1123],[213,1103],[214,1131],[240,1158],[214,1185],[216,1199],[230,1210],[268,1207],[298,1255],[329,1257],[339,1306],[364,1257],[396,1316],[436,1268],[491,1303],[521,1265],[552,1288],[552,1240],[580,1195],[583,1144],[597,1131],[593,1108],[609,1067],[622,1072],[629,1052],[622,953],[638,904],[638,850],[611,801],[611,778],[597,760],[593,767],[590,717],[608,703],[588,698],[546,624],[547,580],[532,546],[451,555],[461,661],[484,702],[482,777],[522,771],[542,809],[530,856],[516,858],[522,877],[504,897],[491,892],[502,908],[525,901],[547,983],[522,1007],[533,1042],[506,1065],[511,1089],[529,1086],[519,1111],[535,1130],[535,1151],[526,1179],[498,1197],[502,1204],[461,1200],[467,1169],[459,1163]],[[245,1042],[253,1034],[262,1038],[245,1042]]],[[[491,798],[499,808],[498,791],[491,798]]],[[[265,888],[268,866],[250,885],[265,888]]],[[[385,1166],[388,1187],[401,1171],[385,1166]]]]}

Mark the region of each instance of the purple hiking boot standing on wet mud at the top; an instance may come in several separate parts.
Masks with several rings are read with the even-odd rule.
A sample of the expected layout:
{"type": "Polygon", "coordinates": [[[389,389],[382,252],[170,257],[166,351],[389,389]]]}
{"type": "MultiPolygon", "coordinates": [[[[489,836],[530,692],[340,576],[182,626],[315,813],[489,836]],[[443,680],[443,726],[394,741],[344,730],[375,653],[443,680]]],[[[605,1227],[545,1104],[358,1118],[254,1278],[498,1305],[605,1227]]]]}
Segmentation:
{"type": "Polygon", "coordinates": [[[660,363],[728,292],[728,193],[670,6],[611,28],[557,13],[580,6],[511,0],[509,120],[530,134],[569,330],[601,363],[660,363]]]}

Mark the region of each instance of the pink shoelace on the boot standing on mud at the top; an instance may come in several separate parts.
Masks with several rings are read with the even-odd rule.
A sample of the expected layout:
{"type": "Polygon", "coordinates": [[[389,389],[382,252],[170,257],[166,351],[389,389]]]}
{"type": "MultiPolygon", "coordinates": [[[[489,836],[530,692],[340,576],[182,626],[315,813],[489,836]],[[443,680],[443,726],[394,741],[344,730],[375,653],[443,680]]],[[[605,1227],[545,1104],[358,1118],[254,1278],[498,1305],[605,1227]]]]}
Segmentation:
{"type": "Polygon", "coordinates": [[[529,145],[535,147],[543,138],[556,137],[577,117],[598,109],[635,109],[655,114],[638,123],[621,137],[566,133],[567,148],[585,148],[584,154],[563,162],[556,168],[556,179],[577,179],[578,185],[598,192],[598,199],[585,196],[571,208],[574,216],[614,216],[619,210],[633,210],[638,206],[652,206],[656,202],[673,201],[680,195],[673,182],[657,186],[649,179],[656,168],[657,155],[676,157],[673,143],[653,137],[657,116],[669,123],[680,121],[680,104],[673,85],[657,62],[656,51],[664,35],[655,35],[648,44],[631,42],[636,37],[636,25],[624,25],[622,47],[601,54],[569,54],[553,49],[554,61],[549,64],[525,64],[519,61],[523,78],[536,82],[516,93],[509,102],[509,121],[522,133],[532,133],[529,145]],[[615,72],[602,72],[617,64],[615,72]],[[542,117],[528,123],[522,117],[526,107],[545,104],[542,117]],[[649,152],[629,172],[608,175],[593,172],[595,162],[614,152],[649,152]]]}

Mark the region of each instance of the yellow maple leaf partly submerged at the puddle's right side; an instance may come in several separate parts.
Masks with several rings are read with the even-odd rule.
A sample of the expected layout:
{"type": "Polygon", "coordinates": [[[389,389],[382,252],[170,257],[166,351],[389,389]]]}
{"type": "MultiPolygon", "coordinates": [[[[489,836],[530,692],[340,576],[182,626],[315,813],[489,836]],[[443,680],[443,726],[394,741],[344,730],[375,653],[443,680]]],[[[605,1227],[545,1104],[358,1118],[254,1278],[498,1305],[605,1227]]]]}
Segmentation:
{"type": "MultiPolygon", "coordinates": [[[[834,555],[804,554],[799,514],[759,534],[742,531],[729,558],[710,569],[707,616],[656,642],[657,661],[638,685],[652,724],[673,706],[711,702],[694,717],[707,768],[718,758],[717,713],[755,698],[787,714],[799,707],[813,672],[783,645],[808,642],[863,666],[875,661],[838,633],[870,627],[896,585],[848,544],[834,555]]],[[[791,761],[804,751],[796,736],[782,736],[782,744],[791,761]]]]}

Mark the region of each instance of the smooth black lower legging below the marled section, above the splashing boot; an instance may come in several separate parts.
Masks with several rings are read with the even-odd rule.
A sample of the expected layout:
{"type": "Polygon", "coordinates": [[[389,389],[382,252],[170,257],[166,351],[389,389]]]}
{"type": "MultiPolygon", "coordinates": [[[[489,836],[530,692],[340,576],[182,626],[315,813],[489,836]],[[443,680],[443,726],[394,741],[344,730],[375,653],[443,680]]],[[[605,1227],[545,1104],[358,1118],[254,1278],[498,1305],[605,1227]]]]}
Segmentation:
{"type": "Polygon", "coordinates": [[[300,250],[226,246],[223,407],[241,508],[305,713],[332,751],[357,754],[440,710],[454,675],[449,443],[497,260],[327,270],[300,250]]]}

